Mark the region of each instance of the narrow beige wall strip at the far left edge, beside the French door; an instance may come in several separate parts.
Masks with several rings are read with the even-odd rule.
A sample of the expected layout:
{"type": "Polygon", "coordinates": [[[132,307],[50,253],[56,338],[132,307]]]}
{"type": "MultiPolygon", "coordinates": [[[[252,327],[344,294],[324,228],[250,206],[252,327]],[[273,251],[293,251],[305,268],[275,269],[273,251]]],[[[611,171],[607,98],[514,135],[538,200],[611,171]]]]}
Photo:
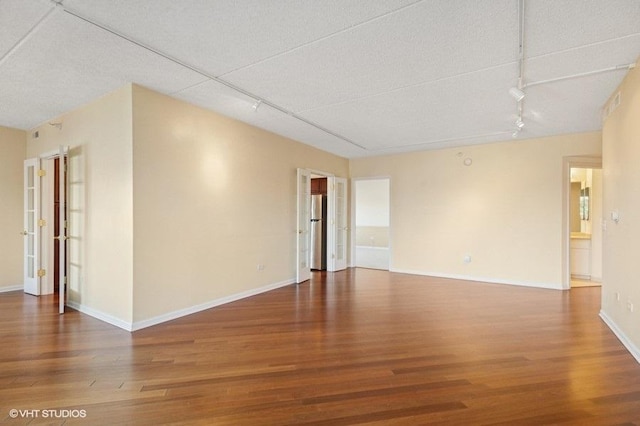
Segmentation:
{"type": "Polygon", "coordinates": [[[27,134],[0,126],[0,291],[22,287],[22,181],[27,134]]]}

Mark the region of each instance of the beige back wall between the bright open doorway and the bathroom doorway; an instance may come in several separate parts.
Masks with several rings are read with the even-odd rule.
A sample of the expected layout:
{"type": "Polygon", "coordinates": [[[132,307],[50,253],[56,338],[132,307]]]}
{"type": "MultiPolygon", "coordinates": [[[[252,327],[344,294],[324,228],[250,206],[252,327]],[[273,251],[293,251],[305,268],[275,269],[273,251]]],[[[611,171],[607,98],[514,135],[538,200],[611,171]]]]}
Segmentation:
{"type": "Polygon", "coordinates": [[[561,288],[563,157],[599,154],[593,132],[356,159],[351,176],[391,178],[392,270],[561,288]]]}

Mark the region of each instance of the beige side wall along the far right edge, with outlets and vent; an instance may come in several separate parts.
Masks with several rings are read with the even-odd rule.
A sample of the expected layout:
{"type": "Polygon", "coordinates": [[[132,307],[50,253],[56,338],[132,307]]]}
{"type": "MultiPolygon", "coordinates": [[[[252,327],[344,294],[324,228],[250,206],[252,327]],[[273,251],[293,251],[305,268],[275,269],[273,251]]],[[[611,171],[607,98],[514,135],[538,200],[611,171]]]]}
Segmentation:
{"type": "MultiPolygon", "coordinates": [[[[603,246],[602,314],[640,361],[640,68],[619,87],[620,106],[603,126],[606,231],[603,246]],[[619,212],[620,221],[611,220],[619,212]],[[618,297],[619,295],[619,300],[618,297]],[[628,302],[634,305],[633,312],[628,302]]],[[[615,93],[618,93],[616,91],[615,93]]],[[[615,96],[615,93],[613,96],[615,96]]]]}

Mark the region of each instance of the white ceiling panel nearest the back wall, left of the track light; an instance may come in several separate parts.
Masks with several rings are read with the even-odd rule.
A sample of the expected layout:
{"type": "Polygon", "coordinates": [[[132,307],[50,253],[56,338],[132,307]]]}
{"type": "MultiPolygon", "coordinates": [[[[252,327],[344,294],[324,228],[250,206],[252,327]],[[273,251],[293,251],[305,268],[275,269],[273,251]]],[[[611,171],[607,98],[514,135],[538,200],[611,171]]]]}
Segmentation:
{"type": "Polygon", "coordinates": [[[509,64],[301,115],[370,149],[511,132],[517,72],[509,64]]]}

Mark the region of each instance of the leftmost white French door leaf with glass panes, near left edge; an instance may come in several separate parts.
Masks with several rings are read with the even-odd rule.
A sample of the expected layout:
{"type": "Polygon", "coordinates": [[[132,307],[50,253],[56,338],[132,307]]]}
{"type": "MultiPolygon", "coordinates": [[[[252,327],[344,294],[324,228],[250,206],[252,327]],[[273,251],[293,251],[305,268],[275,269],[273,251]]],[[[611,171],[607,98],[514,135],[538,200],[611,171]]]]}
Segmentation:
{"type": "Polygon", "coordinates": [[[40,294],[40,159],[24,162],[24,292],[40,294]]]}

